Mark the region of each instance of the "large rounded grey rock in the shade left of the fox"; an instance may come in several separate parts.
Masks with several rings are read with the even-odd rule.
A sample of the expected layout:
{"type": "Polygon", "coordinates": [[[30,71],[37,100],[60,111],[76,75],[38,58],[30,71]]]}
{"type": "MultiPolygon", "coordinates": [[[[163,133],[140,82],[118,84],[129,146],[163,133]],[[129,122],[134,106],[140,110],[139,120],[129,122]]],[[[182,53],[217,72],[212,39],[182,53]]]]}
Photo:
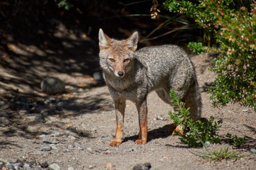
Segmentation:
{"type": "Polygon", "coordinates": [[[55,77],[47,77],[41,82],[41,89],[49,95],[61,94],[65,91],[65,84],[55,77]]]}

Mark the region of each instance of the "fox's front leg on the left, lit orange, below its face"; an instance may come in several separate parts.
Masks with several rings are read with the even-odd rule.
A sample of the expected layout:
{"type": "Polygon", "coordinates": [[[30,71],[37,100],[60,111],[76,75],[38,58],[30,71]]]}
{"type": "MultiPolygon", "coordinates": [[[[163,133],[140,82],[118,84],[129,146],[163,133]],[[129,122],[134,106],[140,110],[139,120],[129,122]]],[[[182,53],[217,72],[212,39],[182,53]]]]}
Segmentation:
{"type": "Polygon", "coordinates": [[[117,122],[117,128],[116,128],[116,136],[113,141],[110,142],[110,146],[118,146],[122,143],[122,137],[123,137],[123,122],[124,122],[124,109],[126,107],[126,100],[125,99],[119,99],[114,101],[115,104],[115,110],[116,110],[116,122],[117,122]]]}

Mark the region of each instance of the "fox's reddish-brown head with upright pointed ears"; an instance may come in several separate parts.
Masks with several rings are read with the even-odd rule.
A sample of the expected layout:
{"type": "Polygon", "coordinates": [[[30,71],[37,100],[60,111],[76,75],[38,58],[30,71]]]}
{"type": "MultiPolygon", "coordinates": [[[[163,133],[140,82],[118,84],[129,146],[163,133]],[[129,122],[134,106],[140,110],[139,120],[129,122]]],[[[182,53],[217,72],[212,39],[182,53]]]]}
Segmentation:
{"type": "Polygon", "coordinates": [[[131,68],[134,52],[137,49],[138,32],[134,32],[126,40],[115,40],[99,32],[100,65],[102,69],[117,78],[124,77],[124,74],[131,68]]]}

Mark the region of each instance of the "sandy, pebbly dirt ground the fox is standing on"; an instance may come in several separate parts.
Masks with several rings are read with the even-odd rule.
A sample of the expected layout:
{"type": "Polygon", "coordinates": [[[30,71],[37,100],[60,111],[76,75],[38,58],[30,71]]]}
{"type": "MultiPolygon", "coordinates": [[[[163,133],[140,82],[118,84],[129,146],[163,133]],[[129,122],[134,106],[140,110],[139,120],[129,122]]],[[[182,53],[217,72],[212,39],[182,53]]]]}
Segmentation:
{"type": "MultiPolygon", "coordinates": [[[[12,46],[10,48],[15,49],[12,46]]],[[[210,115],[216,119],[223,118],[220,136],[224,136],[227,132],[246,136],[249,139],[246,146],[242,148],[230,146],[230,148],[240,151],[241,155],[250,154],[250,149],[256,148],[255,112],[239,104],[213,108],[209,94],[206,92],[215,76],[207,70],[211,57],[208,55],[190,57],[196,67],[201,88],[202,116],[207,119],[210,115]]],[[[188,148],[180,143],[177,136],[169,134],[168,129],[172,120],[168,112],[172,108],[161,101],[155,92],[152,92],[147,100],[148,143],[146,145],[134,143],[139,131],[138,114],[134,104],[128,101],[123,143],[118,147],[110,147],[108,143],[114,137],[116,118],[107,87],[104,84],[96,84],[94,78],[81,72],[74,70],[66,73],[58,72],[57,68],[60,69],[63,62],[72,68],[79,67],[80,61],[59,61],[60,66],[57,66],[41,60],[36,66],[26,68],[26,64],[31,65],[23,59],[16,58],[15,60],[19,62],[15,62],[13,58],[6,56],[5,61],[13,67],[0,68],[0,158],[2,159],[20,159],[33,168],[47,162],[49,165],[56,163],[61,169],[73,167],[78,170],[126,170],[147,162],[151,164],[152,170],[252,170],[256,167],[256,154],[238,160],[218,162],[193,155],[191,152],[204,152],[205,149],[188,148]],[[15,71],[15,67],[21,66],[21,63],[26,70],[15,71]],[[32,73],[38,77],[31,79],[32,73]],[[56,96],[43,94],[39,89],[39,83],[47,75],[62,79],[66,84],[66,93],[56,96]],[[38,118],[38,115],[43,115],[46,123],[42,123],[44,120],[38,118]],[[49,137],[50,142],[43,142],[45,136],[49,137]],[[43,146],[52,146],[52,150],[41,151],[43,146]]],[[[210,148],[219,146],[220,144],[212,145],[210,148]]]]}

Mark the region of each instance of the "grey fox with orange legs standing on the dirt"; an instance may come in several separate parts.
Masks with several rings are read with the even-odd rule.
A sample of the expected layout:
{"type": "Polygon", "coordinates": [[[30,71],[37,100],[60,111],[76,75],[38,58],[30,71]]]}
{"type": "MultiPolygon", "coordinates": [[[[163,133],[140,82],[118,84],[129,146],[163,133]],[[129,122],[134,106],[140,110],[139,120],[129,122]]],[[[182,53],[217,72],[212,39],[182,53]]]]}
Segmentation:
{"type": "MultiPolygon", "coordinates": [[[[147,143],[148,107],[147,96],[155,91],[165,103],[171,104],[170,89],[190,107],[190,117],[201,118],[201,93],[194,65],[186,52],[177,45],[143,47],[137,50],[138,32],[128,39],[116,40],[99,30],[99,59],[103,79],[114,101],[116,113],[116,134],[109,143],[119,146],[122,143],[124,111],[126,100],[135,103],[139,117],[137,144],[147,143]]],[[[183,134],[181,125],[172,126],[183,134]]],[[[173,132],[174,134],[174,132],[173,132]]]]}

